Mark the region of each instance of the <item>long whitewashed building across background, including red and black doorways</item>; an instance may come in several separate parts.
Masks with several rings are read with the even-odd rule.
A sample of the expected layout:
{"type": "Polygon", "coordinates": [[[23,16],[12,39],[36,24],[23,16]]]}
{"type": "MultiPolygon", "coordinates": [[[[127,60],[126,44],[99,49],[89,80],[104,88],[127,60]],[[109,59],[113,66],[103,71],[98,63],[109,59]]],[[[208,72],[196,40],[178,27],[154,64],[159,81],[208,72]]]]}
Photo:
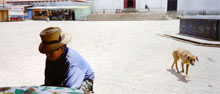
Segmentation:
{"type": "Polygon", "coordinates": [[[89,6],[92,13],[115,13],[117,10],[177,11],[180,15],[219,15],[220,0],[0,0],[0,6],[89,6]]]}

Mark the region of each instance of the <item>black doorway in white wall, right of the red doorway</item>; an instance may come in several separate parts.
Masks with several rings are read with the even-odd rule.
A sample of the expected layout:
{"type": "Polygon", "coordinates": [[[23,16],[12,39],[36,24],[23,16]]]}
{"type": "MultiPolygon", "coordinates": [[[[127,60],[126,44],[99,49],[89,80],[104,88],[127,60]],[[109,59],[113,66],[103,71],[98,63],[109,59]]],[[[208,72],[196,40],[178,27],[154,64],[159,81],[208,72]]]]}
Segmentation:
{"type": "Polygon", "coordinates": [[[167,11],[176,11],[177,10],[177,0],[168,0],[167,11]]]}

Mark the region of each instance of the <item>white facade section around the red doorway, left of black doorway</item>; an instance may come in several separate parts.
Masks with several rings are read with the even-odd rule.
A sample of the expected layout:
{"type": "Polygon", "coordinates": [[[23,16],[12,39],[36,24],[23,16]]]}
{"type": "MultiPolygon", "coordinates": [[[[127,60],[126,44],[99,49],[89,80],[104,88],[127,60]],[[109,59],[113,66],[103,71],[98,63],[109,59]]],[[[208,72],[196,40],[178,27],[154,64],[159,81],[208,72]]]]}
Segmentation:
{"type": "MultiPolygon", "coordinates": [[[[133,8],[137,11],[164,11],[168,9],[169,1],[177,0],[94,0],[95,12],[114,13],[116,9],[127,9],[133,8]]],[[[177,6],[177,3],[176,3],[177,6]]]]}

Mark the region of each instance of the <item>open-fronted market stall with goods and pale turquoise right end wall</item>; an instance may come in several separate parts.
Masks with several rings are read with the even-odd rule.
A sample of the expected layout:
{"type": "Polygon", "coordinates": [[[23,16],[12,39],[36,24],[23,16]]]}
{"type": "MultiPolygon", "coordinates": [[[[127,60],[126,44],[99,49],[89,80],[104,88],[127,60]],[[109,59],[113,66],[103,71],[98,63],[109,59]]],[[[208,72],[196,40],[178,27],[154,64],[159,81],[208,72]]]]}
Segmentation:
{"type": "Polygon", "coordinates": [[[91,14],[88,6],[48,6],[28,8],[33,12],[34,20],[83,20],[91,14]]]}

